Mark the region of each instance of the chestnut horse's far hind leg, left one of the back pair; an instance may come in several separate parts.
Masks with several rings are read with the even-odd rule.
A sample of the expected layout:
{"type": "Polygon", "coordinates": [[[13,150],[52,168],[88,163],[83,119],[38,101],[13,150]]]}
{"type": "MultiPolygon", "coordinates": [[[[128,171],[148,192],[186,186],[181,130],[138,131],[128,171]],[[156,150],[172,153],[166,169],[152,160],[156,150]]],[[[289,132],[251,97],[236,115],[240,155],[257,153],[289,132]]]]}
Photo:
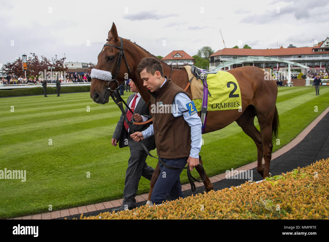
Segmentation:
{"type": "Polygon", "coordinates": [[[257,172],[264,177],[262,135],[254,125],[255,116],[254,106],[249,105],[236,122],[242,128],[243,132],[255,142],[257,147],[257,172]]]}

